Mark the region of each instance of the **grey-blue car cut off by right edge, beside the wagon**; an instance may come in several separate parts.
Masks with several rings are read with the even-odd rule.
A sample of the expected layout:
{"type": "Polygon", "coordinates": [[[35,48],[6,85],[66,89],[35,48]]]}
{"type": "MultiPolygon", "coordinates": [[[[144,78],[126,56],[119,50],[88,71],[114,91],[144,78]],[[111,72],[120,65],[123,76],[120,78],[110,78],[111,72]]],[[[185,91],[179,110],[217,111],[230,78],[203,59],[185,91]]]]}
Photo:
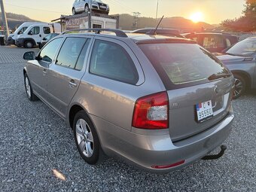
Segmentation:
{"type": "Polygon", "coordinates": [[[235,77],[234,99],[246,88],[256,89],[256,37],[246,38],[218,55],[235,77]]]}

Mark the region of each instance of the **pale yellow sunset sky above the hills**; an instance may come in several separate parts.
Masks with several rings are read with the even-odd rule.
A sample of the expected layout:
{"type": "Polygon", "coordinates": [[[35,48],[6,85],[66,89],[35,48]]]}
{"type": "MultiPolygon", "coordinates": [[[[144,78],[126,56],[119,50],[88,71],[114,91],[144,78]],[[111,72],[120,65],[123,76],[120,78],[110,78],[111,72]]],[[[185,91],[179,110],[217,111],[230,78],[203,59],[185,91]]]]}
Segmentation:
{"type": "MultiPolygon", "coordinates": [[[[5,11],[24,14],[34,20],[49,22],[60,14],[72,14],[74,0],[4,0],[5,11]]],[[[110,14],[133,14],[156,17],[157,0],[103,0],[110,14]]],[[[216,24],[242,14],[244,0],[159,0],[158,17],[196,17],[196,21],[216,24]],[[200,17],[200,18],[197,18],[200,17]]]]}

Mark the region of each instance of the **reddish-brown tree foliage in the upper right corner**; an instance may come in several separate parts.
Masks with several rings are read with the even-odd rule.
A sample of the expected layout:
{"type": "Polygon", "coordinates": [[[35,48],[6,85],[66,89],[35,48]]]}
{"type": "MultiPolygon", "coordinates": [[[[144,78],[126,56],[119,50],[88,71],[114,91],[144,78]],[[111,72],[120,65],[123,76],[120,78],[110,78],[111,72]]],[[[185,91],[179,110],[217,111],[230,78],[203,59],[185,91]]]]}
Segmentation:
{"type": "Polygon", "coordinates": [[[256,31],[256,0],[245,0],[245,9],[242,17],[233,20],[224,20],[221,25],[224,29],[235,32],[256,31]]]}

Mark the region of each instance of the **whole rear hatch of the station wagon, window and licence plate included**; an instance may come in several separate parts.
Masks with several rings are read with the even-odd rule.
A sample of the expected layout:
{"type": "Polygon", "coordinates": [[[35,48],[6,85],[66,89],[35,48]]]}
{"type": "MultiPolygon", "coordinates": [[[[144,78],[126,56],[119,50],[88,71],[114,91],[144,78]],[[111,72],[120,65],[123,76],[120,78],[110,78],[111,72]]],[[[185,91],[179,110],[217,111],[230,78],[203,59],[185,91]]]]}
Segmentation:
{"type": "Polygon", "coordinates": [[[203,132],[227,115],[233,75],[215,56],[193,43],[139,44],[139,47],[166,87],[172,141],[203,132]]]}

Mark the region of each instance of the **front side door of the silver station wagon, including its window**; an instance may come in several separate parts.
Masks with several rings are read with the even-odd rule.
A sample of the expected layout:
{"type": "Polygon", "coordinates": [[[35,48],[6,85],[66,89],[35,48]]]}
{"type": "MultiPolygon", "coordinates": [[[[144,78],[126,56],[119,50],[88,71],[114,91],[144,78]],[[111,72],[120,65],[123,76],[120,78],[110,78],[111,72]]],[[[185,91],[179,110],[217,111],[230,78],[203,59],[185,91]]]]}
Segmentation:
{"type": "Polygon", "coordinates": [[[56,38],[50,41],[38,53],[37,59],[30,62],[27,69],[33,90],[43,100],[47,98],[47,72],[61,41],[62,38],[56,38]]]}

